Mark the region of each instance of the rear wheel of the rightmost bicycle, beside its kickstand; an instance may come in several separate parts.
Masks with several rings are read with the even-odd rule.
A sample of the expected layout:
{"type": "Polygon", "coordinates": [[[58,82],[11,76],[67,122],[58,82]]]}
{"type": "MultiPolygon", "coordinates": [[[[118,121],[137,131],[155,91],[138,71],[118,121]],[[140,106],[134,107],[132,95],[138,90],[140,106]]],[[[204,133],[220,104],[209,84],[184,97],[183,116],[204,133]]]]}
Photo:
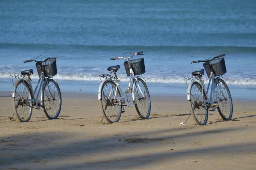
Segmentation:
{"type": "Polygon", "coordinates": [[[203,104],[207,100],[206,93],[198,82],[194,82],[190,88],[190,108],[191,113],[198,125],[205,125],[208,119],[208,109],[203,104]]]}

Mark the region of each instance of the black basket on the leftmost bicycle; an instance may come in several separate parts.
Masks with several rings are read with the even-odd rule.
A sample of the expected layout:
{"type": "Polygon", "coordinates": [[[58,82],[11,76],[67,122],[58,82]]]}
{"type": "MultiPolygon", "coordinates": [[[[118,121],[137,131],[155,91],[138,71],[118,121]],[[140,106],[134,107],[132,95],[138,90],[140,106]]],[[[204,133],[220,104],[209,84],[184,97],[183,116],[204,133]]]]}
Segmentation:
{"type": "Polygon", "coordinates": [[[39,77],[41,76],[42,72],[44,72],[44,76],[46,77],[55,76],[57,74],[56,59],[51,59],[42,63],[42,67],[40,63],[36,63],[36,69],[39,77]]]}

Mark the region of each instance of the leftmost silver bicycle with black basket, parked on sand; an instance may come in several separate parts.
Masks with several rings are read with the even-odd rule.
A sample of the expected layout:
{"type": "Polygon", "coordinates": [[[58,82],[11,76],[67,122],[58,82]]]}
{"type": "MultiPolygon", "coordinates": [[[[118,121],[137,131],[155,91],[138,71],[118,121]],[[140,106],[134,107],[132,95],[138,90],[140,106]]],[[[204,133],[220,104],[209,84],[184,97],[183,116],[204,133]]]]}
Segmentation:
{"type": "MultiPolygon", "coordinates": [[[[43,57],[46,58],[46,56],[43,57]]],[[[50,57],[43,61],[42,58],[41,61],[36,61],[35,59],[24,61],[24,63],[36,62],[39,80],[34,92],[31,83],[32,79],[30,78],[31,74],[34,74],[32,69],[24,70],[21,74],[10,75],[14,86],[12,91],[14,114],[16,113],[16,117],[20,122],[28,122],[30,120],[33,108],[40,109],[42,107],[48,119],[56,119],[60,114],[61,93],[57,82],[53,79],[53,76],[57,74],[57,58],[50,57]],[[18,79],[15,84],[13,78],[18,79]]]]}

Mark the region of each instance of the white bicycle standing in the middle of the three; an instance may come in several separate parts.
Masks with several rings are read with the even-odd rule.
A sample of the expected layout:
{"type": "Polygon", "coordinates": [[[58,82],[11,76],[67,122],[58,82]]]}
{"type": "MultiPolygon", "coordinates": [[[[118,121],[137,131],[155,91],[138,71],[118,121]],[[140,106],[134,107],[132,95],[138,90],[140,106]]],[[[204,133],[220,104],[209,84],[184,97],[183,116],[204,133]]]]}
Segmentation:
{"type": "MultiPolygon", "coordinates": [[[[113,72],[114,76],[110,74],[100,74],[100,86],[98,90],[98,100],[100,100],[100,107],[102,107],[103,117],[108,123],[114,123],[119,121],[121,113],[124,113],[122,106],[130,107],[130,95],[132,94],[132,101],[135,105],[138,115],[142,119],[148,119],[151,110],[150,95],[148,87],[146,86],[146,80],[143,77],[137,76],[144,74],[145,64],[144,58],[134,59],[134,56],[144,55],[140,51],[138,53],[126,52],[121,57],[114,57],[110,60],[124,59],[124,67],[127,76],[130,76],[128,89],[123,94],[120,87],[120,80],[117,77],[116,72],[120,68],[120,65],[110,66],[107,70],[110,74],[113,72]],[[130,57],[125,58],[124,55],[130,54],[130,57]],[[131,60],[129,60],[131,59],[131,60]],[[102,80],[104,78],[104,80],[102,80]],[[126,104],[126,105],[124,105],[126,104]]],[[[103,119],[102,117],[102,119],[103,119]]]]}

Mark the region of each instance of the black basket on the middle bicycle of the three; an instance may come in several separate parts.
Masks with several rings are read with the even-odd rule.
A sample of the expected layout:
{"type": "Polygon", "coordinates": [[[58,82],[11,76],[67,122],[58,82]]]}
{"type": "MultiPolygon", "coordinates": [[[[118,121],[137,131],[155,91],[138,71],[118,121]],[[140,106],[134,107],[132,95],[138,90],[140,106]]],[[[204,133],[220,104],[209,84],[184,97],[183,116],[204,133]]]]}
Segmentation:
{"type": "MultiPolygon", "coordinates": [[[[129,63],[132,66],[132,70],[133,70],[135,76],[144,74],[146,72],[144,58],[131,60],[131,61],[129,61],[129,63]]],[[[124,68],[125,68],[127,76],[129,77],[130,76],[130,67],[129,67],[129,64],[127,61],[124,62],[124,68]]]]}

